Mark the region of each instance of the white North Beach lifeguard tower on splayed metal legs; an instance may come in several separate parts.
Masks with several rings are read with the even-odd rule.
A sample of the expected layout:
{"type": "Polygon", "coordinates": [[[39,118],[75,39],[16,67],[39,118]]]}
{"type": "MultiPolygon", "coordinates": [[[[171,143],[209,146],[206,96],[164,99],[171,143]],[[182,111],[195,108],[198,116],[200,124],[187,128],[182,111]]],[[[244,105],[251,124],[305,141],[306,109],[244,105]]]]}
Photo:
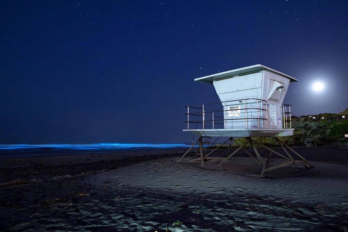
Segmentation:
{"type": "MultiPolygon", "coordinates": [[[[196,142],[192,141],[193,145],[177,162],[180,162],[198,143],[201,167],[204,168],[204,161],[207,160],[208,155],[229,142],[228,156],[217,167],[240,149],[247,152],[243,147],[250,143],[259,160],[258,162],[262,166],[260,175],[298,162],[305,163],[305,167],[309,168],[306,159],[278,139],[280,136],[293,135],[294,129],[291,128],[291,105],[283,104],[283,100],[289,84],[298,81],[297,79],[257,64],[197,78],[195,81],[214,85],[220,102],[186,106],[187,113],[185,115],[187,115],[187,121],[185,122],[187,122],[187,129],[183,129],[183,131],[198,135],[199,138],[196,142]],[[217,138],[210,144],[212,137],[217,138]],[[204,146],[208,144],[208,147],[212,147],[220,137],[228,137],[228,139],[209,153],[207,153],[207,149],[205,152],[203,151],[204,146]],[[245,137],[247,142],[239,145],[234,139],[236,137],[245,137]],[[274,137],[286,155],[270,149],[255,141],[252,137],[274,137]],[[233,142],[239,147],[230,154],[233,142]],[[255,146],[256,144],[270,151],[266,162],[261,158],[255,146]],[[285,147],[301,160],[293,159],[285,147]],[[203,153],[205,154],[203,155],[203,153]],[[284,158],[286,162],[266,168],[272,153],[284,158]]],[[[249,152],[247,153],[254,158],[249,152]]]]}

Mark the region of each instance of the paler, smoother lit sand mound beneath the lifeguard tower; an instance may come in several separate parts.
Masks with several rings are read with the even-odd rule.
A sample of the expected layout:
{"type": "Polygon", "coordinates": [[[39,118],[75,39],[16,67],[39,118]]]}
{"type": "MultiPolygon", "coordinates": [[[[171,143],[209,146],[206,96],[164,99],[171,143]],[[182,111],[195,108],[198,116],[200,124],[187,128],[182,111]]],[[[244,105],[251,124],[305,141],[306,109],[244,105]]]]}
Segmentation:
{"type": "Polygon", "coordinates": [[[113,170],[110,175],[122,183],[145,189],[207,194],[240,192],[299,202],[348,203],[346,166],[312,162],[315,168],[305,169],[301,163],[272,170],[268,175],[274,176],[275,179],[268,179],[231,173],[233,171],[259,174],[260,165],[253,164],[255,162],[247,157],[232,158],[220,166],[219,171],[211,169],[219,164],[220,159],[205,162],[204,170],[200,168],[200,161],[187,159],[183,163],[176,163],[176,160],[176,158],[151,160],[113,170]],[[248,165],[249,163],[252,164],[248,165]],[[227,171],[222,171],[223,169],[227,171]]]}

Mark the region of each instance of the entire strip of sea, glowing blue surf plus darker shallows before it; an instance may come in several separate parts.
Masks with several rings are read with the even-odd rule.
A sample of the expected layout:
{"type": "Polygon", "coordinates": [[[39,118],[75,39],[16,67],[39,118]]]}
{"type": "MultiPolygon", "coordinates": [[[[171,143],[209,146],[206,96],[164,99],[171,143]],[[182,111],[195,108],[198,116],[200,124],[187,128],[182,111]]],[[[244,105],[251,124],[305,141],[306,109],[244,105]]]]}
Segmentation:
{"type": "Polygon", "coordinates": [[[189,146],[191,145],[166,143],[0,144],[0,157],[116,152],[120,150],[164,149],[189,146]]]}

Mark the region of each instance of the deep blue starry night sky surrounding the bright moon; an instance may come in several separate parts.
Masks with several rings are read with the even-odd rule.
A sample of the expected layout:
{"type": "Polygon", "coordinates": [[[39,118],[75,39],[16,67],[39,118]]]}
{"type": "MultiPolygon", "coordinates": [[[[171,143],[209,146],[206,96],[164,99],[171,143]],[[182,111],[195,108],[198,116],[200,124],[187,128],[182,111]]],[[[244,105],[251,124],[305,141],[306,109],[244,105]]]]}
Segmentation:
{"type": "Polygon", "coordinates": [[[0,143],[190,143],[194,78],[263,64],[296,115],[348,107],[348,1],[2,1],[0,143]],[[316,81],[324,84],[315,92],[316,81]]]}

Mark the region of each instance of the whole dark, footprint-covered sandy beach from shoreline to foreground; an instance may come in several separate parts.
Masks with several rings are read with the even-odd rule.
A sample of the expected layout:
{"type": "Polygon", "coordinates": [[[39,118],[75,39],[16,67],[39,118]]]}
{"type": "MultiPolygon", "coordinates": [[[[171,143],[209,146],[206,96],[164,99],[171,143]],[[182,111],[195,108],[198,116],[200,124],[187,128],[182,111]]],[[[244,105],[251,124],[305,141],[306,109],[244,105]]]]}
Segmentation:
{"type": "Polygon", "coordinates": [[[348,149],[294,150],[314,168],[270,178],[243,151],[211,170],[227,149],[0,158],[0,231],[348,231],[348,149]]]}

